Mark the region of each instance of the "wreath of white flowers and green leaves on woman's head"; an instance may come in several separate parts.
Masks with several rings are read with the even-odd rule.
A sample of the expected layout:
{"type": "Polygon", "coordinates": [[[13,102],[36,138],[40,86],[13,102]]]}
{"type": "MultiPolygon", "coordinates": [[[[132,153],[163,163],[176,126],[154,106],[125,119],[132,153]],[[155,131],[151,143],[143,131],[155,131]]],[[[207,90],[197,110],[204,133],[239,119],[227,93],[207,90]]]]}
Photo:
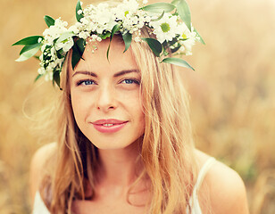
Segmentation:
{"type": "MultiPolygon", "coordinates": [[[[89,4],[82,9],[78,0],[76,6],[77,23],[66,28],[68,23],[61,18],[54,20],[45,16],[48,29],[43,36],[25,37],[13,45],[24,45],[20,57],[22,62],[35,56],[40,61],[37,78],[45,76],[60,86],[60,73],[66,54],[72,49],[71,65],[74,69],[82,58],[87,41],[98,41],[121,34],[126,52],[132,40],[146,42],[153,53],[160,57],[160,62],[168,62],[194,70],[180,58],[167,57],[169,52],[175,54],[191,54],[196,41],[204,44],[203,38],[191,24],[190,10],[185,0],[173,0],[169,3],[155,3],[140,7],[136,0],[124,0],[116,6],[101,3],[97,6],[89,4]],[[104,15],[103,15],[104,14],[104,15]],[[140,37],[140,29],[149,28],[155,35],[140,37]],[[41,51],[40,56],[36,53],[41,51]]],[[[106,56],[108,58],[110,45],[106,56]]]]}

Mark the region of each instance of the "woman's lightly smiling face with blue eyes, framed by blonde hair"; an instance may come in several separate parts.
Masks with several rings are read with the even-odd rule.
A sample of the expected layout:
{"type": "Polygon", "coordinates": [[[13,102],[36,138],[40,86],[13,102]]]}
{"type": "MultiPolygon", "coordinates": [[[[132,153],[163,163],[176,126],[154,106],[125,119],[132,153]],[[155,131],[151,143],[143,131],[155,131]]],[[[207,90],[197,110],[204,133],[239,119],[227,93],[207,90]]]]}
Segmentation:
{"type": "Polygon", "coordinates": [[[131,51],[123,53],[124,45],[114,37],[108,62],[108,45],[108,40],[87,45],[85,61],[70,68],[71,104],[79,129],[97,148],[119,149],[144,134],[145,116],[131,51]]]}

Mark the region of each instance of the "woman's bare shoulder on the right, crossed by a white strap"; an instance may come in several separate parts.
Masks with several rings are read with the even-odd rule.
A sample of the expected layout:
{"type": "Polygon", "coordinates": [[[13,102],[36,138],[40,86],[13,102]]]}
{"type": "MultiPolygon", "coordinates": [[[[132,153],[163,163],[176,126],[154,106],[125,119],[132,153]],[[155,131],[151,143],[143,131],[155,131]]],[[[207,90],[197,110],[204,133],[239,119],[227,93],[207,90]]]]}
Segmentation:
{"type": "MultiPolygon", "coordinates": [[[[199,167],[204,165],[210,156],[204,152],[196,151],[199,167]]],[[[246,187],[236,171],[230,169],[220,161],[215,161],[204,177],[203,185],[199,192],[209,193],[212,213],[247,214],[246,187]],[[206,188],[206,189],[205,189],[206,188]]],[[[207,210],[204,213],[208,213],[207,210]]]]}

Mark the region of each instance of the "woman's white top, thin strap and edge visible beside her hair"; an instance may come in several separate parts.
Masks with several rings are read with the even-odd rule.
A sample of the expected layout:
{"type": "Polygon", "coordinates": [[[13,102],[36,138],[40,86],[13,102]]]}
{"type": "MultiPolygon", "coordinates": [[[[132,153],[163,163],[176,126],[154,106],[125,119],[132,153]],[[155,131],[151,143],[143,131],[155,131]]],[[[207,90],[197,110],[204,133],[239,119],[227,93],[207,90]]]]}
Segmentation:
{"type": "MultiPolygon", "coordinates": [[[[190,198],[190,206],[191,206],[191,213],[190,214],[202,214],[202,210],[200,207],[200,204],[198,202],[198,190],[200,186],[202,185],[204,181],[204,177],[207,173],[207,171],[212,167],[212,164],[216,160],[214,158],[209,158],[205,163],[200,172],[198,173],[198,177],[196,180],[196,185],[194,186],[192,197],[190,198]]],[[[46,205],[41,199],[40,193],[36,193],[35,202],[33,206],[32,214],[50,214],[50,212],[46,209],[46,205]]],[[[187,210],[187,214],[189,214],[189,211],[187,210]]]]}

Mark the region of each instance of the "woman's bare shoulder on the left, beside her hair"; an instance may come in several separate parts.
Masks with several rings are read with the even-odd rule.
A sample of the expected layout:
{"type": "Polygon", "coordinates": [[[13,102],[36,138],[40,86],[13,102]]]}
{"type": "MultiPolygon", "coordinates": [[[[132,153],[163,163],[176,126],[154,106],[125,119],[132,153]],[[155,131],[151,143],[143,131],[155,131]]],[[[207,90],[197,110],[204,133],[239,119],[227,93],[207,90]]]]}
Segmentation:
{"type": "Polygon", "coordinates": [[[35,194],[37,193],[38,186],[45,175],[45,165],[49,157],[56,151],[57,144],[45,144],[34,153],[29,170],[29,187],[32,202],[34,202],[35,194]]]}

